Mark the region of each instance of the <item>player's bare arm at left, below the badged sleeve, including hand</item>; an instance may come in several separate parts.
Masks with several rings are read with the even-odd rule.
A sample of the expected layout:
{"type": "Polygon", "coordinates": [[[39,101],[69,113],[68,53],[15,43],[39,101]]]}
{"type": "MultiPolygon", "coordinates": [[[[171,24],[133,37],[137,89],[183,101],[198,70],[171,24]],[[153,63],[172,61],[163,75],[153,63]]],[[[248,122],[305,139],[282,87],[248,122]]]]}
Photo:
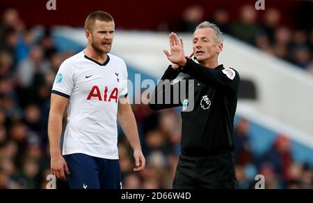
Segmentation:
{"type": "Polygon", "coordinates": [[[65,173],[70,174],[67,164],[61,154],[62,120],[68,98],[51,93],[51,104],[48,121],[48,136],[51,155],[51,172],[58,179],[65,179],[65,173]]]}

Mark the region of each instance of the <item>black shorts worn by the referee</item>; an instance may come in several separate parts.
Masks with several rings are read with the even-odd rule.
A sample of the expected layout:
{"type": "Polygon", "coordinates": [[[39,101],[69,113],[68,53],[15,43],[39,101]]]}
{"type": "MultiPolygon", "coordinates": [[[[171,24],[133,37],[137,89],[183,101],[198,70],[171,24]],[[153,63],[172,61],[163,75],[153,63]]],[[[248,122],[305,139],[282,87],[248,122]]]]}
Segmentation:
{"type": "Polygon", "coordinates": [[[197,157],[180,155],[173,189],[236,189],[232,153],[197,157]]]}

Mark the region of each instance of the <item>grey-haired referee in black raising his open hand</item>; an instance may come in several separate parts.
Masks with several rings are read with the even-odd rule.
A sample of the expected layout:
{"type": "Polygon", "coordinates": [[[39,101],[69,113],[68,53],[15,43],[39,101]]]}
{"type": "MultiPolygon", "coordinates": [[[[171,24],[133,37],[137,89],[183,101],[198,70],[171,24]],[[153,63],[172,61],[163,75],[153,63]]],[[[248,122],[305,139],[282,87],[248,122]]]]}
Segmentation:
{"type": "Polygon", "coordinates": [[[170,33],[169,40],[170,53],[167,50],[163,52],[172,66],[168,67],[161,80],[170,82],[171,89],[163,89],[160,86],[166,82],[159,82],[149,105],[153,110],[182,106],[181,154],[172,188],[234,189],[237,183],[232,155],[233,128],[240,77],[233,68],[218,65],[223,35],[216,24],[202,22],[193,33],[193,53],[189,57],[184,57],[182,38],[170,33]],[[179,73],[188,76],[173,82],[179,73]],[[177,100],[173,96],[179,96],[179,93],[172,91],[175,85],[181,87],[182,81],[194,84],[193,105],[188,103],[191,98],[173,102],[177,100]],[[159,103],[158,96],[169,95],[170,103],[159,103]]]}

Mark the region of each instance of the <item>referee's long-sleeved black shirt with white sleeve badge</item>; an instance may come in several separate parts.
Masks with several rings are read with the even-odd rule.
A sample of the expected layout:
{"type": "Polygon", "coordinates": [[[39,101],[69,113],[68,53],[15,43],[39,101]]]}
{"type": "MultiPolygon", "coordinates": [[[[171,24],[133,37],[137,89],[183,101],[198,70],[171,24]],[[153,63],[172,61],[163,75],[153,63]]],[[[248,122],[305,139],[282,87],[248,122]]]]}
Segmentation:
{"type": "MultiPolygon", "coordinates": [[[[182,148],[181,152],[188,156],[210,156],[215,153],[232,151],[234,149],[233,129],[234,114],[237,105],[239,89],[239,73],[232,68],[219,65],[207,68],[187,59],[186,65],[179,70],[168,67],[161,80],[174,80],[179,72],[186,73],[190,84],[194,84],[194,107],[191,111],[182,108],[182,148]]],[[[170,107],[183,106],[183,101],[169,104],[157,103],[158,96],[165,96],[170,91],[171,97],[180,95],[173,93],[175,85],[166,89],[158,84],[152,94],[149,106],[153,110],[163,110],[170,107]]],[[[188,88],[187,88],[188,89],[188,88]]],[[[188,93],[186,93],[188,96],[188,93]]],[[[187,98],[188,100],[188,98],[187,98]]],[[[186,105],[186,104],[185,104],[186,105]]]]}

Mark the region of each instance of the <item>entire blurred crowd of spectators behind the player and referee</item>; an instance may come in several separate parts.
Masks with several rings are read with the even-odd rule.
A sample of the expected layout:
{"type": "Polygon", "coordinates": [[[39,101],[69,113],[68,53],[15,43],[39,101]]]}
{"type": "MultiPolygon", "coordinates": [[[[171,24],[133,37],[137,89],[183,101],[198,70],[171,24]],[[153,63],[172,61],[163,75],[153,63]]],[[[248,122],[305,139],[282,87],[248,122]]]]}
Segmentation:
{"type": "MultiPolygon", "coordinates": [[[[232,23],[226,9],[216,10],[214,22],[225,33],[310,68],[312,33],[309,38],[305,31],[281,27],[278,10],[266,11],[264,24],[255,22],[255,10],[249,6],[241,10],[240,20],[232,23]]],[[[202,12],[186,11],[182,31],[193,30],[203,20],[199,14],[202,16],[202,12]],[[185,16],[190,15],[198,22],[188,22],[185,16]]],[[[0,188],[46,188],[50,174],[47,119],[51,87],[60,64],[74,53],[58,51],[49,29],[35,36],[17,10],[4,11],[0,23],[0,188]]],[[[119,130],[123,188],[171,188],[179,156],[179,111],[132,107],[147,166],[141,173],[133,172],[132,151],[119,130]]],[[[248,129],[249,121],[240,119],[234,133],[239,188],[253,188],[256,174],[266,176],[266,188],[312,188],[312,168],[292,160],[286,137],[279,136],[271,151],[255,156],[248,129]]],[[[58,181],[57,186],[68,188],[64,181],[58,181]]]]}

